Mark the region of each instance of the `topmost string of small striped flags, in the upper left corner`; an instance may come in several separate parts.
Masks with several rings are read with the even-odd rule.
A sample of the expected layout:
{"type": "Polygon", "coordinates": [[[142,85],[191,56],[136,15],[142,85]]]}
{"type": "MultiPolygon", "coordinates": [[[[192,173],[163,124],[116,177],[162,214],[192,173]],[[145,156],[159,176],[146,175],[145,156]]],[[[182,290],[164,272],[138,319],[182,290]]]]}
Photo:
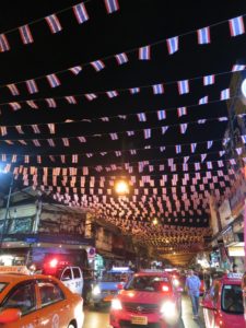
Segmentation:
{"type": "MultiPolygon", "coordinates": [[[[104,3],[105,3],[105,8],[106,8],[106,11],[107,11],[108,14],[114,13],[114,12],[119,10],[118,0],[104,0],[104,3]]],[[[69,11],[69,10],[73,11],[73,14],[74,14],[74,16],[77,19],[77,22],[79,24],[85,23],[90,19],[89,14],[87,14],[87,11],[86,11],[86,8],[85,8],[85,3],[83,3],[83,2],[81,2],[79,4],[75,4],[72,8],[69,8],[67,10],[63,10],[62,12],[69,11]]],[[[42,20],[38,20],[38,22],[40,22],[40,21],[42,20]]],[[[44,17],[44,21],[46,22],[46,24],[47,24],[47,26],[48,26],[51,34],[57,34],[57,33],[62,31],[62,25],[61,25],[60,20],[58,17],[58,13],[54,13],[54,14],[50,14],[50,15],[44,17]]],[[[31,23],[25,24],[23,26],[11,30],[10,32],[5,32],[5,33],[0,34],[0,51],[4,52],[4,51],[8,51],[8,50],[11,49],[10,43],[9,43],[7,36],[9,34],[15,33],[15,32],[19,32],[19,34],[21,36],[21,39],[22,39],[22,43],[24,45],[33,44],[34,43],[34,37],[33,37],[33,34],[32,34],[32,31],[31,31],[31,25],[33,26],[35,23],[36,22],[31,22],[31,23]]]]}

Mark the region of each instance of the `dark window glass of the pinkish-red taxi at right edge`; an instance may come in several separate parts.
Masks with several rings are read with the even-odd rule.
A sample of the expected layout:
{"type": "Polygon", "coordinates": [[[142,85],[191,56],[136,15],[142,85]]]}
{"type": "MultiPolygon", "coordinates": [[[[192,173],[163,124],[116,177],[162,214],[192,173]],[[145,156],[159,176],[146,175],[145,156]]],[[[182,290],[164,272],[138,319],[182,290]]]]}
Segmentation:
{"type": "Polygon", "coordinates": [[[238,284],[225,284],[222,291],[222,309],[226,313],[243,314],[243,293],[238,284]]]}

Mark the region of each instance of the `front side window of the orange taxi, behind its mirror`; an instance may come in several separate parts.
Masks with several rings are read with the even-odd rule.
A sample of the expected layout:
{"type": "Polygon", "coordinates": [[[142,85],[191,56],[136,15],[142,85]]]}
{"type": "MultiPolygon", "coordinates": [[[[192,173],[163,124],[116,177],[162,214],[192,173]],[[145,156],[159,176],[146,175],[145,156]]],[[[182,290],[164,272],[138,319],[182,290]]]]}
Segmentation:
{"type": "Polygon", "coordinates": [[[20,308],[22,315],[36,309],[36,297],[34,282],[20,284],[9,294],[8,298],[1,304],[0,308],[20,308]]]}

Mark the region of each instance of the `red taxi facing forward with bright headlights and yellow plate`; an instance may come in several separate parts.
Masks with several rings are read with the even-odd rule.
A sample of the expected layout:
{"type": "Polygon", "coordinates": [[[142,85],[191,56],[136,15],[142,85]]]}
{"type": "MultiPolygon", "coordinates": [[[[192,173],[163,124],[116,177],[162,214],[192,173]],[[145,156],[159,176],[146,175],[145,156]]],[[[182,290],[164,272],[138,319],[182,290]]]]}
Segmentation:
{"type": "Polygon", "coordinates": [[[133,274],[112,301],[110,327],[166,328],[177,325],[181,317],[181,291],[166,272],[133,274]]]}

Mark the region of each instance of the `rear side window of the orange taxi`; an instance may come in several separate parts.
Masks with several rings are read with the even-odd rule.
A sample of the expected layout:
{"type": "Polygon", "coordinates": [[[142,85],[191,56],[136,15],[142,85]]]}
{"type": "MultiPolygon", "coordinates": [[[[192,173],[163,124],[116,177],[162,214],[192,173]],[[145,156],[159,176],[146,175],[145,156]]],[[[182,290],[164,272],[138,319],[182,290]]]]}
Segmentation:
{"type": "Polygon", "coordinates": [[[59,285],[51,281],[38,281],[42,307],[65,300],[63,292],[59,285]]]}

